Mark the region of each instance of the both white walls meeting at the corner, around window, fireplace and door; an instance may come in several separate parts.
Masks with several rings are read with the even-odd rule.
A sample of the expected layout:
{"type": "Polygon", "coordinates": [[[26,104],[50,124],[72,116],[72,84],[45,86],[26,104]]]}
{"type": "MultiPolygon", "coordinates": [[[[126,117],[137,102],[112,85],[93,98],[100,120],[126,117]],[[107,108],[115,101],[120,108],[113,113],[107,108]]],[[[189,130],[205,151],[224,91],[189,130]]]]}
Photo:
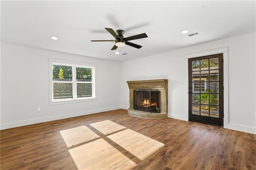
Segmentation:
{"type": "Polygon", "coordinates": [[[146,79],[168,79],[168,117],[187,121],[188,106],[184,103],[188,100],[188,66],[184,64],[185,54],[228,46],[229,112],[225,113],[228,125],[224,124],[224,127],[256,134],[255,37],[254,32],[122,63],[1,43],[1,129],[128,109],[126,81],[146,79]],[[49,57],[96,63],[98,100],[49,105],[49,57]],[[41,107],[40,112],[37,107],[41,107]]]}

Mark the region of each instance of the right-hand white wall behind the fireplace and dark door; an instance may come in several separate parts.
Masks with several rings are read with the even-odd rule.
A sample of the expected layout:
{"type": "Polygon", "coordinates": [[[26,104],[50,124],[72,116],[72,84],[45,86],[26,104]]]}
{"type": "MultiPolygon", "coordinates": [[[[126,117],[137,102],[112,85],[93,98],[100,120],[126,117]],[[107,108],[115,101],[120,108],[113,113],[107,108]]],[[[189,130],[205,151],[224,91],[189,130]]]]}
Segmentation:
{"type": "MultiPolygon", "coordinates": [[[[169,51],[121,63],[121,106],[129,107],[126,81],[168,79],[168,117],[188,120],[188,87],[184,55],[228,46],[228,125],[224,127],[256,134],[256,34],[169,51]],[[184,85],[183,85],[184,84],[184,85]],[[185,103],[185,104],[184,104],[185,103]]],[[[224,61],[227,62],[227,61],[224,61]]],[[[225,90],[225,89],[224,89],[225,90]]],[[[225,107],[225,106],[224,106],[225,107]]]]}

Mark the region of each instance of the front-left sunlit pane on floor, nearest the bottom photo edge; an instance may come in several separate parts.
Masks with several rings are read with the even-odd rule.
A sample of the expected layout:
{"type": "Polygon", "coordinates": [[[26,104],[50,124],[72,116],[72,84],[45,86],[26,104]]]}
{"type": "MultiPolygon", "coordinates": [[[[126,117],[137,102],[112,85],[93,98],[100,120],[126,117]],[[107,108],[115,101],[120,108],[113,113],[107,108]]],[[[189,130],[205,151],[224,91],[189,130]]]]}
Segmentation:
{"type": "Polygon", "coordinates": [[[131,169],[136,163],[100,138],[68,150],[79,170],[131,169]]]}

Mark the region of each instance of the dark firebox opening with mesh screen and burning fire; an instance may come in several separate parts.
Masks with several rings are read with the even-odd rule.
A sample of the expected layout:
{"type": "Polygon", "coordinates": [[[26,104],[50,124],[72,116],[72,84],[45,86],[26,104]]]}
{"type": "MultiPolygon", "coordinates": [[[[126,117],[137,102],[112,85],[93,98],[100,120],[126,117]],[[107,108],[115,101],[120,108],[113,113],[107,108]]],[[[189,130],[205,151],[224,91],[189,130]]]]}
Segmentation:
{"type": "Polygon", "coordinates": [[[160,113],[160,91],[158,90],[134,90],[133,109],[138,111],[160,113]]]}

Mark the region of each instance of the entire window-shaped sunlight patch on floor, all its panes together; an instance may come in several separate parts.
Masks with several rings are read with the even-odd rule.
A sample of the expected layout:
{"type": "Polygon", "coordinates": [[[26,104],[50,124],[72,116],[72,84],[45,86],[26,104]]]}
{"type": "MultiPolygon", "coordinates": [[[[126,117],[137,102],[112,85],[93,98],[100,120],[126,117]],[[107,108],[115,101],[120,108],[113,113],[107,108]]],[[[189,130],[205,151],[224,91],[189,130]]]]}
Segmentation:
{"type": "Polygon", "coordinates": [[[131,160],[132,157],[127,157],[129,154],[145,160],[164,146],[161,142],[109,120],[92,123],[90,126],[98,130],[100,136],[86,126],[60,131],[78,170],[132,169],[137,164],[131,160]],[[115,147],[116,144],[112,145],[106,140],[112,140],[109,142],[119,146],[115,147]],[[120,147],[122,152],[118,150],[120,147]]]}

